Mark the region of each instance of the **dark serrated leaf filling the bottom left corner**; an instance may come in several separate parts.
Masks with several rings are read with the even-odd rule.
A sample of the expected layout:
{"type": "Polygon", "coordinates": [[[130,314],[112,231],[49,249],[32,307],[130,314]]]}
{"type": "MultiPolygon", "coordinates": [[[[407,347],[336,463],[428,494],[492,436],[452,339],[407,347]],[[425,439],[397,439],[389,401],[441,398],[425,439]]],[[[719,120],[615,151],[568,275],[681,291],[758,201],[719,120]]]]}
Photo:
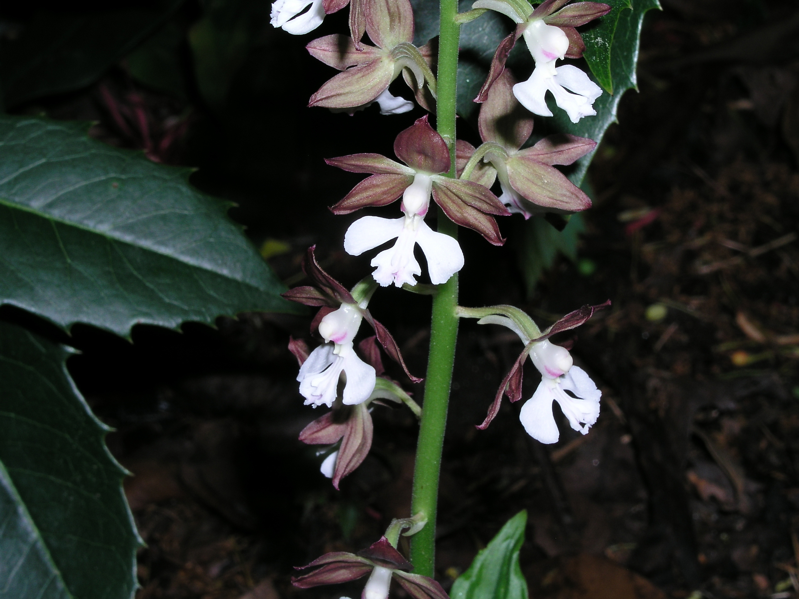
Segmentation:
{"type": "Polygon", "coordinates": [[[0,323],[0,595],[129,599],[141,544],[70,355],[0,323]]]}

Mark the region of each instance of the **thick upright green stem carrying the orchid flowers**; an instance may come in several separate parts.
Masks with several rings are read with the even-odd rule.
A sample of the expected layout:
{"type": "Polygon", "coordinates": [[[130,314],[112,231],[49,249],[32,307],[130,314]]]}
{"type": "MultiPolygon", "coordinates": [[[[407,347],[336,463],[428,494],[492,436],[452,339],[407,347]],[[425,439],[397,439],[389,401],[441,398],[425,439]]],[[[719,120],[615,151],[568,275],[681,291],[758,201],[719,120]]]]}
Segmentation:
{"type": "MultiPolygon", "coordinates": [[[[458,74],[460,26],[456,22],[458,0],[440,0],[439,72],[436,97],[436,125],[450,150],[451,169],[455,177],[455,87],[458,74]]],[[[439,232],[457,238],[458,225],[439,208],[439,232]]],[[[435,573],[435,510],[439,494],[439,471],[444,429],[447,425],[452,366],[455,362],[455,341],[458,339],[458,275],[439,286],[433,296],[430,331],[430,355],[424,383],[422,422],[416,446],[413,473],[411,514],[427,520],[427,526],[411,537],[413,572],[423,576],[435,573]]]]}

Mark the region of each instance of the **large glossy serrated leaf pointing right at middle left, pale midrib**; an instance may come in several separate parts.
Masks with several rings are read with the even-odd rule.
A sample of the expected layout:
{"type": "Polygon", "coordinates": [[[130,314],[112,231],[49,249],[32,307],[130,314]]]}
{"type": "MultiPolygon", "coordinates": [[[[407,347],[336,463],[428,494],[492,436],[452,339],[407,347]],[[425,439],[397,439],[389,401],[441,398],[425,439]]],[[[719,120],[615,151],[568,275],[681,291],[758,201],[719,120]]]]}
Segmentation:
{"type": "Polygon", "coordinates": [[[0,117],[0,303],[119,335],[297,310],[227,206],[189,185],[189,169],[85,129],[0,117]]]}

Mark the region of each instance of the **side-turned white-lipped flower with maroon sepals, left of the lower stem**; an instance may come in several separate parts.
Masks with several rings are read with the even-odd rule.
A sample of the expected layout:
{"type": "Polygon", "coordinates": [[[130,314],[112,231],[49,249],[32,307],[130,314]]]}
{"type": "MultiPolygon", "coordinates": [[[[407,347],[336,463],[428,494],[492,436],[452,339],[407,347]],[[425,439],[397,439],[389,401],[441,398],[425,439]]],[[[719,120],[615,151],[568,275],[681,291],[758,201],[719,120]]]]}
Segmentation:
{"type": "Polygon", "coordinates": [[[293,288],[283,294],[288,300],[320,307],[311,328],[312,331],[318,329],[325,343],[316,347],[302,361],[300,374],[297,375],[305,405],[317,407],[324,403],[332,407],[342,373],[346,377],[342,398],[345,404],[364,403],[372,395],[375,389],[375,368],[364,363],[353,347],[363,319],[375,330],[378,341],[388,355],[402,365],[411,380],[419,382],[421,379],[407,371],[400,348],[391,333],[367,309],[375,290],[374,284],[358,284],[353,292],[349,292],[322,270],[314,256],[315,248],[316,246],[308,248],[303,269],[316,285],[293,288]]]}

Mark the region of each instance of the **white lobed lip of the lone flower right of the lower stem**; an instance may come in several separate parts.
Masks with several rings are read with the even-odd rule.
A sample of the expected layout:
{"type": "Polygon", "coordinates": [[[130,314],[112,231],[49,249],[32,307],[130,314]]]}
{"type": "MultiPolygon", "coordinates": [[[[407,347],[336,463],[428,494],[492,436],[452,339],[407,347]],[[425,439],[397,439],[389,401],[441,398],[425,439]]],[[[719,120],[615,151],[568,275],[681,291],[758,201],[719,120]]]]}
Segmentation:
{"type": "Polygon", "coordinates": [[[602,391],[597,389],[586,372],[573,366],[558,379],[541,379],[535,394],[522,406],[519,420],[532,438],[542,443],[557,442],[560,433],[552,413],[552,402],[556,401],[571,428],[587,434],[599,418],[601,395],[602,391]],[[571,397],[566,391],[571,391],[578,397],[571,397]]]}

